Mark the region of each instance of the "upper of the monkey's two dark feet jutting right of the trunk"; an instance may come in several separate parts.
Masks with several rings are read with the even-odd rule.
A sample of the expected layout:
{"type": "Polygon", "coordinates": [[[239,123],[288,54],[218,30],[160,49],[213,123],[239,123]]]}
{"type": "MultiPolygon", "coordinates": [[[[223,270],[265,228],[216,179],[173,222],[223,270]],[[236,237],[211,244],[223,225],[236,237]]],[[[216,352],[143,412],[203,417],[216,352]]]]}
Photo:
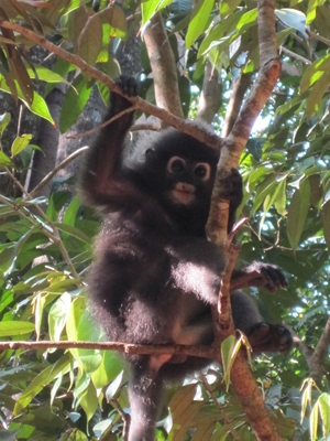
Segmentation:
{"type": "Polygon", "coordinates": [[[254,261],[248,267],[234,270],[231,289],[246,287],[264,287],[271,292],[286,288],[287,281],[282,270],[276,265],[254,261]]]}

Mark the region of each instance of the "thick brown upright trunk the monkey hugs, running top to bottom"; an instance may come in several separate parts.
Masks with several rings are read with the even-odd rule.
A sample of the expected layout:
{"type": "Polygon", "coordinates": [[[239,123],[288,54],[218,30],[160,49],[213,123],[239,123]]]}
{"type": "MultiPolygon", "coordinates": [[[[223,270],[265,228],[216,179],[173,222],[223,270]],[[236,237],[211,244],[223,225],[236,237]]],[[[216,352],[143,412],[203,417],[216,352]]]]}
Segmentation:
{"type": "MultiPolygon", "coordinates": [[[[262,67],[256,84],[244,103],[233,125],[232,131],[224,140],[224,146],[221,150],[219,170],[211,200],[211,211],[207,225],[208,234],[212,237],[212,240],[219,245],[224,244],[227,225],[222,227],[221,232],[215,230],[215,226],[221,224],[223,211],[228,209],[228,207],[226,207],[226,202],[221,201],[221,194],[223,194],[221,176],[226,176],[232,168],[238,168],[241,153],[248,142],[253,123],[271,96],[280,72],[280,62],[276,54],[274,11],[274,0],[258,0],[260,60],[262,67]]],[[[227,318],[230,316],[230,302],[226,301],[224,297],[221,303],[221,316],[224,319],[224,326],[221,321],[220,330],[221,327],[228,326],[227,318]]],[[[230,325],[228,330],[231,330],[230,325]]],[[[219,332],[219,334],[216,335],[216,341],[218,341],[219,335],[222,336],[222,330],[216,331],[217,334],[219,332]]],[[[279,441],[280,438],[266,409],[263,395],[251,374],[242,352],[239,353],[233,363],[231,381],[257,440],[279,441]]]]}

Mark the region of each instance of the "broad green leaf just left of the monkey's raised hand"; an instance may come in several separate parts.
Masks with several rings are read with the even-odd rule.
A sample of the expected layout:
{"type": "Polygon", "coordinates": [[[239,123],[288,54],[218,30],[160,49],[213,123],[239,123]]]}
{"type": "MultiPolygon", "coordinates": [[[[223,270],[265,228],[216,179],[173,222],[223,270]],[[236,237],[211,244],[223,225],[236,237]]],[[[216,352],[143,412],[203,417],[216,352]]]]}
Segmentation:
{"type": "Polygon", "coordinates": [[[59,130],[65,133],[77,121],[92,90],[84,75],[78,75],[65,95],[59,117],[59,130]]]}

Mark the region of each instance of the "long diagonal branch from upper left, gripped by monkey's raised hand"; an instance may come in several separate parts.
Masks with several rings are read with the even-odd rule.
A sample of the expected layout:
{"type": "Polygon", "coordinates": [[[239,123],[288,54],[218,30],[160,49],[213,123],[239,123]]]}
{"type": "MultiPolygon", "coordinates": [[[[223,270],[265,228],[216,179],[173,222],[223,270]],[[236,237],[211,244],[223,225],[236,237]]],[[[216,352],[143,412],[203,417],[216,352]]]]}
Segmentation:
{"type": "MultiPolygon", "coordinates": [[[[109,89],[116,92],[119,95],[122,95],[121,88],[116,84],[113,79],[98,71],[97,68],[87,64],[82,58],[77,55],[70,54],[62,47],[56,46],[51,43],[44,36],[37,35],[35,32],[30,31],[29,29],[21,26],[18,23],[11,23],[9,21],[2,20],[0,21],[0,28],[10,29],[14,32],[20,33],[25,36],[28,40],[38,44],[40,46],[46,49],[50,52],[53,52],[55,55],[59,56],[63,60],[74,64],[79,67],[81,72],[89,75],[92,78],[98,79],[102,84],[105,84],[109,89]]],[[[191,137],[198,139],[201,142],[215,148],[221,148],[221,138],[217,137],[215,133],[208,131],[206,128],[194,125],[190,121],[185,121],[176,117],[175,115],[169,114],[168,111],[161,109],[160,107],[153,106],[152,104],[145,101],[144,99],[138,97],[127,97],[132,104],[134,104],[142,111],[154,115],[155,117],[162,119],[167,125],[175,127],[176,129],[183,131],[184,133],[191,135],[191,137]]]]}

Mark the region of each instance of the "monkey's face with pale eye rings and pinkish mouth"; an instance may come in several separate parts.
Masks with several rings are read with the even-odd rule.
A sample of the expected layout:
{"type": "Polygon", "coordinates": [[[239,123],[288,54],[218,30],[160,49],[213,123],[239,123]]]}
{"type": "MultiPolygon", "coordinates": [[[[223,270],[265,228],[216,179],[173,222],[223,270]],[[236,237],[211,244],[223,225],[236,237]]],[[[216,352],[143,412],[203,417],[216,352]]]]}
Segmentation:
{"type": "Polygon", "coordinates": [[[169,158],[166,164],[166,197],[174,204],[190,205],[208,196],[211,187],[211,166],[182,157],[169,158]]]}

